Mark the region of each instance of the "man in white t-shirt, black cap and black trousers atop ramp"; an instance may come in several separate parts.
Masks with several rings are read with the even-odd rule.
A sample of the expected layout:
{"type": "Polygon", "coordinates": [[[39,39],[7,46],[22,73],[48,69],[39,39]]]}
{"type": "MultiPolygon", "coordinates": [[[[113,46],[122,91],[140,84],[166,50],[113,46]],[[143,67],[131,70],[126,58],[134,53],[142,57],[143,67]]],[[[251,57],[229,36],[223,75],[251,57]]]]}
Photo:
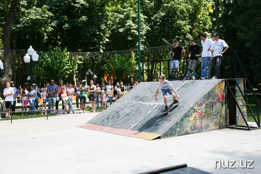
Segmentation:
{"type": "Polygon", "coordinates": [[[210,49],[211,49],[211,57],[210,60],[212,60],[211,63],[211,73],[214,75],[211,79],[218,79],[218,74],[220,70],[221,61],[223,58],[223,53],[226,52],[226,50],[229,48],[229,46],[226,44],[226,42],[222,39],[219,39],[219,34],[214,33],[213,37],[215,41],[212,43],[210,49]],[[223,48],[225,47],[224,51],[223,48]],[[216,65],[216,68],[214,66],[216,65]]]}

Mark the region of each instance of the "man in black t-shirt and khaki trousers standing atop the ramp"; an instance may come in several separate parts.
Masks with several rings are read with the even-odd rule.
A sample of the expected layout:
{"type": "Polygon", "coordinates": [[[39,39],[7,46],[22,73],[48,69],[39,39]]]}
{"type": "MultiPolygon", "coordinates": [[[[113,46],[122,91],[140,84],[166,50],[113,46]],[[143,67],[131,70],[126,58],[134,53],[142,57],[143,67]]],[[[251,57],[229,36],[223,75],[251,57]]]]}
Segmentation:
{"type": "MultiPolygon", "coordinates": [[[[193,71],[195,71],[197,68],[198,57],[200,57],[202,54],[202,52],[200,54],[198,54],[198,51],[203,50],[203,48],[202,48],[202,46],[195,44],[193,38],[189,39],[189,44],[190,44],[190,46],[189,46],[190,57],[189,57],[189,66],[188,67],[192,68],[193,71]]],[[[193,77],[193,74],[191,72],[188,72],[185,79],[183,79],[183,80],[191,80],[192,77],[193,77]]]]}

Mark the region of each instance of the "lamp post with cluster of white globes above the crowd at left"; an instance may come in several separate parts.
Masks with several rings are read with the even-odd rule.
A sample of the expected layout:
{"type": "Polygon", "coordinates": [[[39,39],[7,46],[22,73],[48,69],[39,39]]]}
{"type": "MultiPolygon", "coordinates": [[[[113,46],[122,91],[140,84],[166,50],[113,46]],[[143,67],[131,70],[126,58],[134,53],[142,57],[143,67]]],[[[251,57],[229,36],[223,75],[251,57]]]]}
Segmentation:
{"type": "Polygon", "coordinates": [[[27,67],[30,68],[30,85],[33,84],[33,74],[32,70],[36,65],[36,62],[39,59],[39,55],[36,53],[36,51],[30,46],[28,48],[26,55],[23,57],[24,62],[26,63],[27,67]]]}

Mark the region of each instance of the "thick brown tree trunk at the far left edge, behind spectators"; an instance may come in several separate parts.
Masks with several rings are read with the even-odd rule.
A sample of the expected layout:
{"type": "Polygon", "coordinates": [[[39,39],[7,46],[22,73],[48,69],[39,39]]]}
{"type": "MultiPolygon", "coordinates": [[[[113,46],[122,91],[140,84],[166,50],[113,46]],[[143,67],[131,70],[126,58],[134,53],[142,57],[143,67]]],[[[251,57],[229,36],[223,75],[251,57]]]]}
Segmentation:
{"type": "MultiPolygon", "coordinates": [[[[16,11],[17,11],[17,2],[18,0],[12,0],[10,5],[9,14],[6,20],[6,23],[3,26],[3,35],[1,37],[4,46],[3,54],[3,66],[4,72],[0,78],[0,88],[3,91],[6,88],[6,81],[10,81],[12,78],[12,68],[11,68],[11,45],[10,45],[10,32],[12,30],[12,25],[14,23],[16,11]]],[[[1,93],[1,98],[3,98],[3,92],[1,93]]],[[[5,104],[1,104],[1,112],[6,110],[5,104]]]]}

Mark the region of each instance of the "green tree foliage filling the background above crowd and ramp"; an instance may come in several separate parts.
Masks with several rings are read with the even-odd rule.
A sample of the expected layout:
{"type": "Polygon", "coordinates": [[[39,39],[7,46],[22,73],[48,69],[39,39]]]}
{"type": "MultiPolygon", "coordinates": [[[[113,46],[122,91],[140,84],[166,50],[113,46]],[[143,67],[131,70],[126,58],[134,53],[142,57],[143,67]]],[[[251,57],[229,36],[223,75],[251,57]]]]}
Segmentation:
{"type": "MultiPolygon", "coordinates": [[[[5,35],[3,25],[8,17],[11,0],[0,0],[0,3],[0,34],[5,35]]],[[[218,31],[220,38],[230,46],[228,52],[246,51],[247,74],[253,86],[259,88],[260,44],[257,44],[255,38],[259,38],[261,33],[260,5],[258,0],[141,0],[141,48],[165,46],[162,38],[170,42],[177,39],[179,43],[184,43],[191,37],[199,40],[200,32],[211,36],[218,31]]],[[[50,51],[49,46],[68,52],[133,50],[138,45],[137,23],[136,0],[19,0],[10,33],[11,49],[27,50],[32,45],[39,52],[50,51]]],[[[0,47],[3,49],[2,42],[0,47]]],[[[148,52],[141,58],[163,60],[167,59],[167,53],[148,52]]],[[[52,75],[53,78],[58,78],[56,75],[59,75],[59,78],[69,81],[75,77],[86,78],[85,73],[89,68],[101,79],[103,66],[108,61],[103,58],[86,60],[85,57],[69,57],[67,60],[57,55],[52,59],[64,59],[65,63],[69,61],[71,71],[66,69],[67,66],[60,66],[59,72],[65,68],[65,73],[46,76],[44,73],[48,71],[43,70],[52,68],[48,64],[50,57],[43,54],[40,59],[35,69],[35,82],[38,85],[46,83],[48,79],[45,77],[51,78],[52,75]]],[[[224,78],[229,78],[226,77],[229,74],[226,72],[229,70],[226,67],[228,59],[229,56],[222,65],[224,78]]],[[[134,57],[133,62],[135,61],[137,57],[134,57]]],[[[10,62],[13,67],[12,79],[23,86],[27,77],[23,74],[28,73],[23,57],[15,57],[10,62]]],[[[135,69],[135,64],[133,66],[130,68],[135,69]]],[[[148,64],[146,66],[148,78],[159,75],[157,63],[153,67],[148,64]]],[[[165,73],[166,70],[163,68],[162,71],[165,73]]],[[[128,76],[133,73],[135,72],[128,76]]]]}

